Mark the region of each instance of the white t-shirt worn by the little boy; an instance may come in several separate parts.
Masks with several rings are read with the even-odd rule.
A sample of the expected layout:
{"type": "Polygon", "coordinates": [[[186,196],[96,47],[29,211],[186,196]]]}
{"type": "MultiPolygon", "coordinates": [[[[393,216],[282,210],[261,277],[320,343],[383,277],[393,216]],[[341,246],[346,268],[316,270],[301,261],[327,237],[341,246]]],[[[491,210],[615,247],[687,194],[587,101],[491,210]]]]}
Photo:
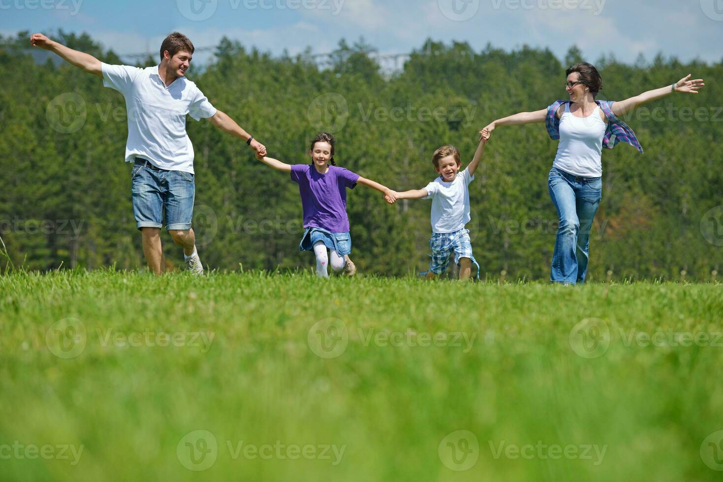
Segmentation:
{"type": "Polygon", "coordinates": [[[474,176],[469,168],[457,173],[452,182],[442,181],[439,176],[427,184],[424,189],[429,194],[424,199],[432,199],[432,232],[454,233],[469,223],[469,183],[474,176]]]}

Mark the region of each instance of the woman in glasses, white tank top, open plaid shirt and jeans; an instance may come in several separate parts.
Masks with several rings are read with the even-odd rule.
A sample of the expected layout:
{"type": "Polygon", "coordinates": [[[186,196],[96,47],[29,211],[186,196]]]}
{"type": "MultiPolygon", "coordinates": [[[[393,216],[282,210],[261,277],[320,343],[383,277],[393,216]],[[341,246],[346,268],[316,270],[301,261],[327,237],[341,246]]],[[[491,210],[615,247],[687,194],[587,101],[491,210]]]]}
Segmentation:
{"type": "Polygon", "coordinates": [[[560,220],[550,280],[574,285],[585,281],[590,228],[602,199],[602,147],[612,149],[623,141],[643,152],[635,133],[619,116],[674,92],[697,94],[705,84],[702,79],[690,80],[688,74],[675,84],[613,103],[595,100],[602,78],[591,64],[580,62],[567,70],[567,76],[565,90],[570,100],[498,119],[482,129],[482,136],[489,139],[497,126],[544,122],[549,137],[560,139],[547,181],[560,220]]]}

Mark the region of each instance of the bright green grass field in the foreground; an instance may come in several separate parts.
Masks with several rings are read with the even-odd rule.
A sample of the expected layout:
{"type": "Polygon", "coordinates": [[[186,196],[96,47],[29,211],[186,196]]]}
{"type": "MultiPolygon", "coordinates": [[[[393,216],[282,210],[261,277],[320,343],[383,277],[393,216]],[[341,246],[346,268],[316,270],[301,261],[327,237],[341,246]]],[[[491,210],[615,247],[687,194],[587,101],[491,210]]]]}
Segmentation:
{"type": "Polygon", "coordinates": [[[722,314],[719,284],[14,273],[0,479],[719,481],[722,314]]]}

